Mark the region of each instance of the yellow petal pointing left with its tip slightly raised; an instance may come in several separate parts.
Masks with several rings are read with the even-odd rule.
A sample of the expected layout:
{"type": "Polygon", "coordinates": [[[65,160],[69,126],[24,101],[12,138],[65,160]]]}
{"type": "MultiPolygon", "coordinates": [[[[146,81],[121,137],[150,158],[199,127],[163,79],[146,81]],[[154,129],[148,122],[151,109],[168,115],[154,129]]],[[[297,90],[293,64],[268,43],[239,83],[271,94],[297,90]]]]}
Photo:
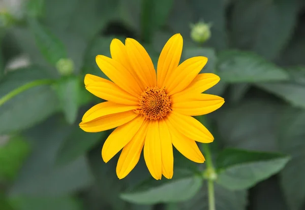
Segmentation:
{"type": "Polygon", "coordinates": [[[119,88],[113,82],[94,76],[85,76],[86,89],[104,100],[109,100],[114,103],[135,105],[139,104],[139,98],[129,94],[128,92],[119,88]]]}

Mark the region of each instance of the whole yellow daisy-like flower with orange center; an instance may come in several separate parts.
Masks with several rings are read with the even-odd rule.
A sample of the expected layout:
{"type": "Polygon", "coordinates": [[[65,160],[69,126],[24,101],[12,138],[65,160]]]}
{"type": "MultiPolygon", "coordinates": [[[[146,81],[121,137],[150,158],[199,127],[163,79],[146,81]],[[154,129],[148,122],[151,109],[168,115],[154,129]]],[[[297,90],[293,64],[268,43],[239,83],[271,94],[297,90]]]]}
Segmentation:
{"type": "Polygon", "coordinates": [[[112,81],[87,74],[86,89],[107,100],[89,109],[80,128],[100,132],[117,127],[106,139],[102,158],[108,162],[120,150],[116,166],[119,179],[125,178],[144,159],[151,176],[160,180],[173,176],[173,147],[185,157],[203,163],[195,141],[210,143],[212,134],[191,116],[205,115],[220,108],[222,97],[202,92],[217,84],[215,74],[199,74],[207,62],[198,56],[179,64],[182,37],[172,36],[165,44],[157,74],[148,53],[134,39],[125,45],[114,39],[111,57],[98,55],[96,62],[112,81]]]}

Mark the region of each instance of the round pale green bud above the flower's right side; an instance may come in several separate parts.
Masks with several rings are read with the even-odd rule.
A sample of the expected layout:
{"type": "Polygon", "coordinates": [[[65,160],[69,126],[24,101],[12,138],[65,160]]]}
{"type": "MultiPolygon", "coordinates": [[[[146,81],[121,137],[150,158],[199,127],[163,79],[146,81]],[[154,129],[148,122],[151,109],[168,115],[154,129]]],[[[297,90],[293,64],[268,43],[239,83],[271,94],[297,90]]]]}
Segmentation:
{"type": "Polygon", "coordinates": [[[204,43],[211,37],[210,24],[198,22],[192,26],[191,38],[198,43],[204,43]]]}

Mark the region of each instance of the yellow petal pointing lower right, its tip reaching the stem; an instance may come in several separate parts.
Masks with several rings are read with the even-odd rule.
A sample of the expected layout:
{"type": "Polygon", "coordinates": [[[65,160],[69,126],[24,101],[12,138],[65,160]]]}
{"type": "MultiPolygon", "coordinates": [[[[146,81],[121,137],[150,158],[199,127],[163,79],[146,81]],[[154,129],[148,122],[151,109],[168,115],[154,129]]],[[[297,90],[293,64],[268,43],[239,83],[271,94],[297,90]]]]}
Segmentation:
{"type": "Polygon", "coordinates": [[[169,132],[174,147],[186,158],[196,163],[203,163],[205,159],[200,152],[196,142],[179,133],[168,120],[166,121],[166,124],[169,127],[169,132]]]}

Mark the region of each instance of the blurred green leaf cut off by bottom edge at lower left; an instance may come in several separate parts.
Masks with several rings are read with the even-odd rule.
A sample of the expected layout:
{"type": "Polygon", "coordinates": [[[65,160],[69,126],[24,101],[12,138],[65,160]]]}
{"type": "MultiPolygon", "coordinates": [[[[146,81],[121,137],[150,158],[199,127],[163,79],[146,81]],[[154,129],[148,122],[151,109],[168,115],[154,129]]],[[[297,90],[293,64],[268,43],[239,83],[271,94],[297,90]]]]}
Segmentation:
{"type": "Polygon", "coordinates": [[[82,204],[73,197],[13,197],[9,199],[15,210],[81,210],[82,204]]]}

